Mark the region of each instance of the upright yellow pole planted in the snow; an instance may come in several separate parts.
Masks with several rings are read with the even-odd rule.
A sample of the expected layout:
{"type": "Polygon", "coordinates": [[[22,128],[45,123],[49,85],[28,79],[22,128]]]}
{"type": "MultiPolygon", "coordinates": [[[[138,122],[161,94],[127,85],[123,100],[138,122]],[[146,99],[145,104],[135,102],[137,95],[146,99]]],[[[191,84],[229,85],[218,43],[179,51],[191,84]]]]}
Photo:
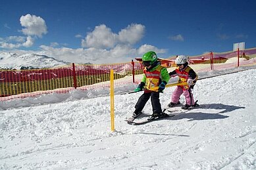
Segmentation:
{"type": "Polygon", "coordinates": [[[115,113],[114,113],[114,70],[110,72],[110,102],[111,102],[111,131],[115,131],[115,113]]]}

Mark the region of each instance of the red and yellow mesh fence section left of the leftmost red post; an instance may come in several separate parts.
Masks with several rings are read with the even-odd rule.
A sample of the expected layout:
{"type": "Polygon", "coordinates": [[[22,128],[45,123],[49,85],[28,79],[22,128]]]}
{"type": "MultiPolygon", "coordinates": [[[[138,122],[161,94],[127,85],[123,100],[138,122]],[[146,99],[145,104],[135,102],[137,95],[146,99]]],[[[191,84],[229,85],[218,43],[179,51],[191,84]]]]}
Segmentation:
{"type": "Polygon", "coordinates": [[[73,87],[72,68],[1,70],[0,96],[73,87]]]}

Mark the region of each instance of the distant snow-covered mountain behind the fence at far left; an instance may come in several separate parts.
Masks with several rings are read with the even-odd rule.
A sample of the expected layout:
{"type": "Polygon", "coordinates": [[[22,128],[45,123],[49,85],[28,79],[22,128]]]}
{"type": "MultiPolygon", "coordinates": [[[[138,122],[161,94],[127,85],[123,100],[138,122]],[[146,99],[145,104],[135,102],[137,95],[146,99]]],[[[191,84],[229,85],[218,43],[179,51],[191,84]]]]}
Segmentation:
{"type": "Polygon", "coordinates": [[[53,68],[70,64],[45,55],[0,53],[0,69],[53,68]]]}

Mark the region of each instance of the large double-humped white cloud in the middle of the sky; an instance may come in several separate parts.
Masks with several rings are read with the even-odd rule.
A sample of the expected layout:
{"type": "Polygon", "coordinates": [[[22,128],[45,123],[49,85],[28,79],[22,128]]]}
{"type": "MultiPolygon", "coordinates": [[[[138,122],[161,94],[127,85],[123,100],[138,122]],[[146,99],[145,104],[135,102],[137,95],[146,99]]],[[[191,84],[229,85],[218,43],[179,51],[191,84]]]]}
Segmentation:
{"type": "Polygon", "coordinates": [[[113,33],[111,28],[101,24],[96,26],[92,32],[82,39],[82,47],[93,47],[97,49],[111,49],[120,43],[133,45],[140,41],[145,32],[145,26],[132,24],[120,32],[113,33]]]}

